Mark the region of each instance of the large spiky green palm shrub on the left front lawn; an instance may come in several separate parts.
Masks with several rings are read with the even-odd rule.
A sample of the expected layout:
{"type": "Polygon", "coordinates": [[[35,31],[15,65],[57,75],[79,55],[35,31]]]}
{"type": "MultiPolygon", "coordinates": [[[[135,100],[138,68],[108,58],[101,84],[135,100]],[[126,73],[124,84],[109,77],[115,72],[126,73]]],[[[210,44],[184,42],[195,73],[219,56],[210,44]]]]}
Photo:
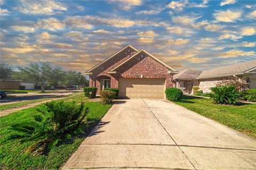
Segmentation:
{"type": "Polygon", "coordinates": [[[12,130],[20,132],[11,138],[21,138],[21,142],[35,141],[35,144],[28,148],[30,152],[37,148],[46,151],[55,147],[61,137],[77,128],[89,112],[88,107],[84,108],[84,103],[78,105],[75,101],[51,101],[44,105],[45,109],[39,110],[42,114],[35,116],[34,122],[11,126],[12,130]]]}

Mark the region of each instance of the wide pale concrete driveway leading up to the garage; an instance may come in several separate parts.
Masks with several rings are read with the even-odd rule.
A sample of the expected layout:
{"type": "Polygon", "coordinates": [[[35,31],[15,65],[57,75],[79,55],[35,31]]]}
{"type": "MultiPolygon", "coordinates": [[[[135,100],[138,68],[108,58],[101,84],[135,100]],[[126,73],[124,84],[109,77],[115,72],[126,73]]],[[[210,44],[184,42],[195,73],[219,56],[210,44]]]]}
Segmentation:
{"type": "Polygon", "coordinates": [[[63,169],[256,169],[256,140],[165,100],[116,102],[63,169]]]}

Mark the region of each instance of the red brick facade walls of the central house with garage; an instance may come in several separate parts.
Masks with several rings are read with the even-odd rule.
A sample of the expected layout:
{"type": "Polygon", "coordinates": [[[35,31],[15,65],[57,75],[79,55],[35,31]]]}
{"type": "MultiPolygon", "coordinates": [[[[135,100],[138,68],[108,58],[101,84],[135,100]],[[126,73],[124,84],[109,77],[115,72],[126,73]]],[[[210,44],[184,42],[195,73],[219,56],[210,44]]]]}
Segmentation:
{"type": "Polygon", "coordinates": [[[146,53],[141,52],[138,56],[135,56],[130,61],[122,65],[117,69],[116,74],[109,74],[108,72],[123,63],[135,51],[132,48],[125,49],[122,53],[116,57],[111,58],[109,61],[103,63],[92,72],[90,75],[90,86],[97,87],[97,95],[100,92],[100,80],[110,79],[110,87],[118,88],[119,78],[164,78],[166,79],[166,88],[173,86],[173,75],[169,74],[169,70],[162,64],[149,57],[146,53]]]}

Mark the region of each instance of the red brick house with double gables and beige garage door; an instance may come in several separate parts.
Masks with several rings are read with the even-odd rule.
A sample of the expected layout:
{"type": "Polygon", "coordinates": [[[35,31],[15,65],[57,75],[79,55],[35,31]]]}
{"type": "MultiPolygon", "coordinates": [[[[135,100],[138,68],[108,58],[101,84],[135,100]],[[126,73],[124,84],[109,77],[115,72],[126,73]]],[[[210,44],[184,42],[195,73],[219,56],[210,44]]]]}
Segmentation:
{"type": "Polygon", "coordinates": [[[145,49],[127,45],[87,70],[89,86],[97,95],[105,88],[118,88],[120,98],[165,98],[165,89],[173,87],[178,73],[145,49]]]}

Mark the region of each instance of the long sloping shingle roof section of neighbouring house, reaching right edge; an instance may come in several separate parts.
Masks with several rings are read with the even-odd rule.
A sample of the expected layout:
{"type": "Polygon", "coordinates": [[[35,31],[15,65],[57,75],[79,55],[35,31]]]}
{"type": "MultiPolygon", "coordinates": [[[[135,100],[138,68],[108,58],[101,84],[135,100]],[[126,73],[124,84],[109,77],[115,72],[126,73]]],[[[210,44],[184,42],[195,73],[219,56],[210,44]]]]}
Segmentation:
{"type": "Polygon", "coordinates": [[[221,77],[225,75],[241,74],[256,67],[256,60],[217,67],[215,69],[205,70],[199,75],[198,79],[221,77]]]}

